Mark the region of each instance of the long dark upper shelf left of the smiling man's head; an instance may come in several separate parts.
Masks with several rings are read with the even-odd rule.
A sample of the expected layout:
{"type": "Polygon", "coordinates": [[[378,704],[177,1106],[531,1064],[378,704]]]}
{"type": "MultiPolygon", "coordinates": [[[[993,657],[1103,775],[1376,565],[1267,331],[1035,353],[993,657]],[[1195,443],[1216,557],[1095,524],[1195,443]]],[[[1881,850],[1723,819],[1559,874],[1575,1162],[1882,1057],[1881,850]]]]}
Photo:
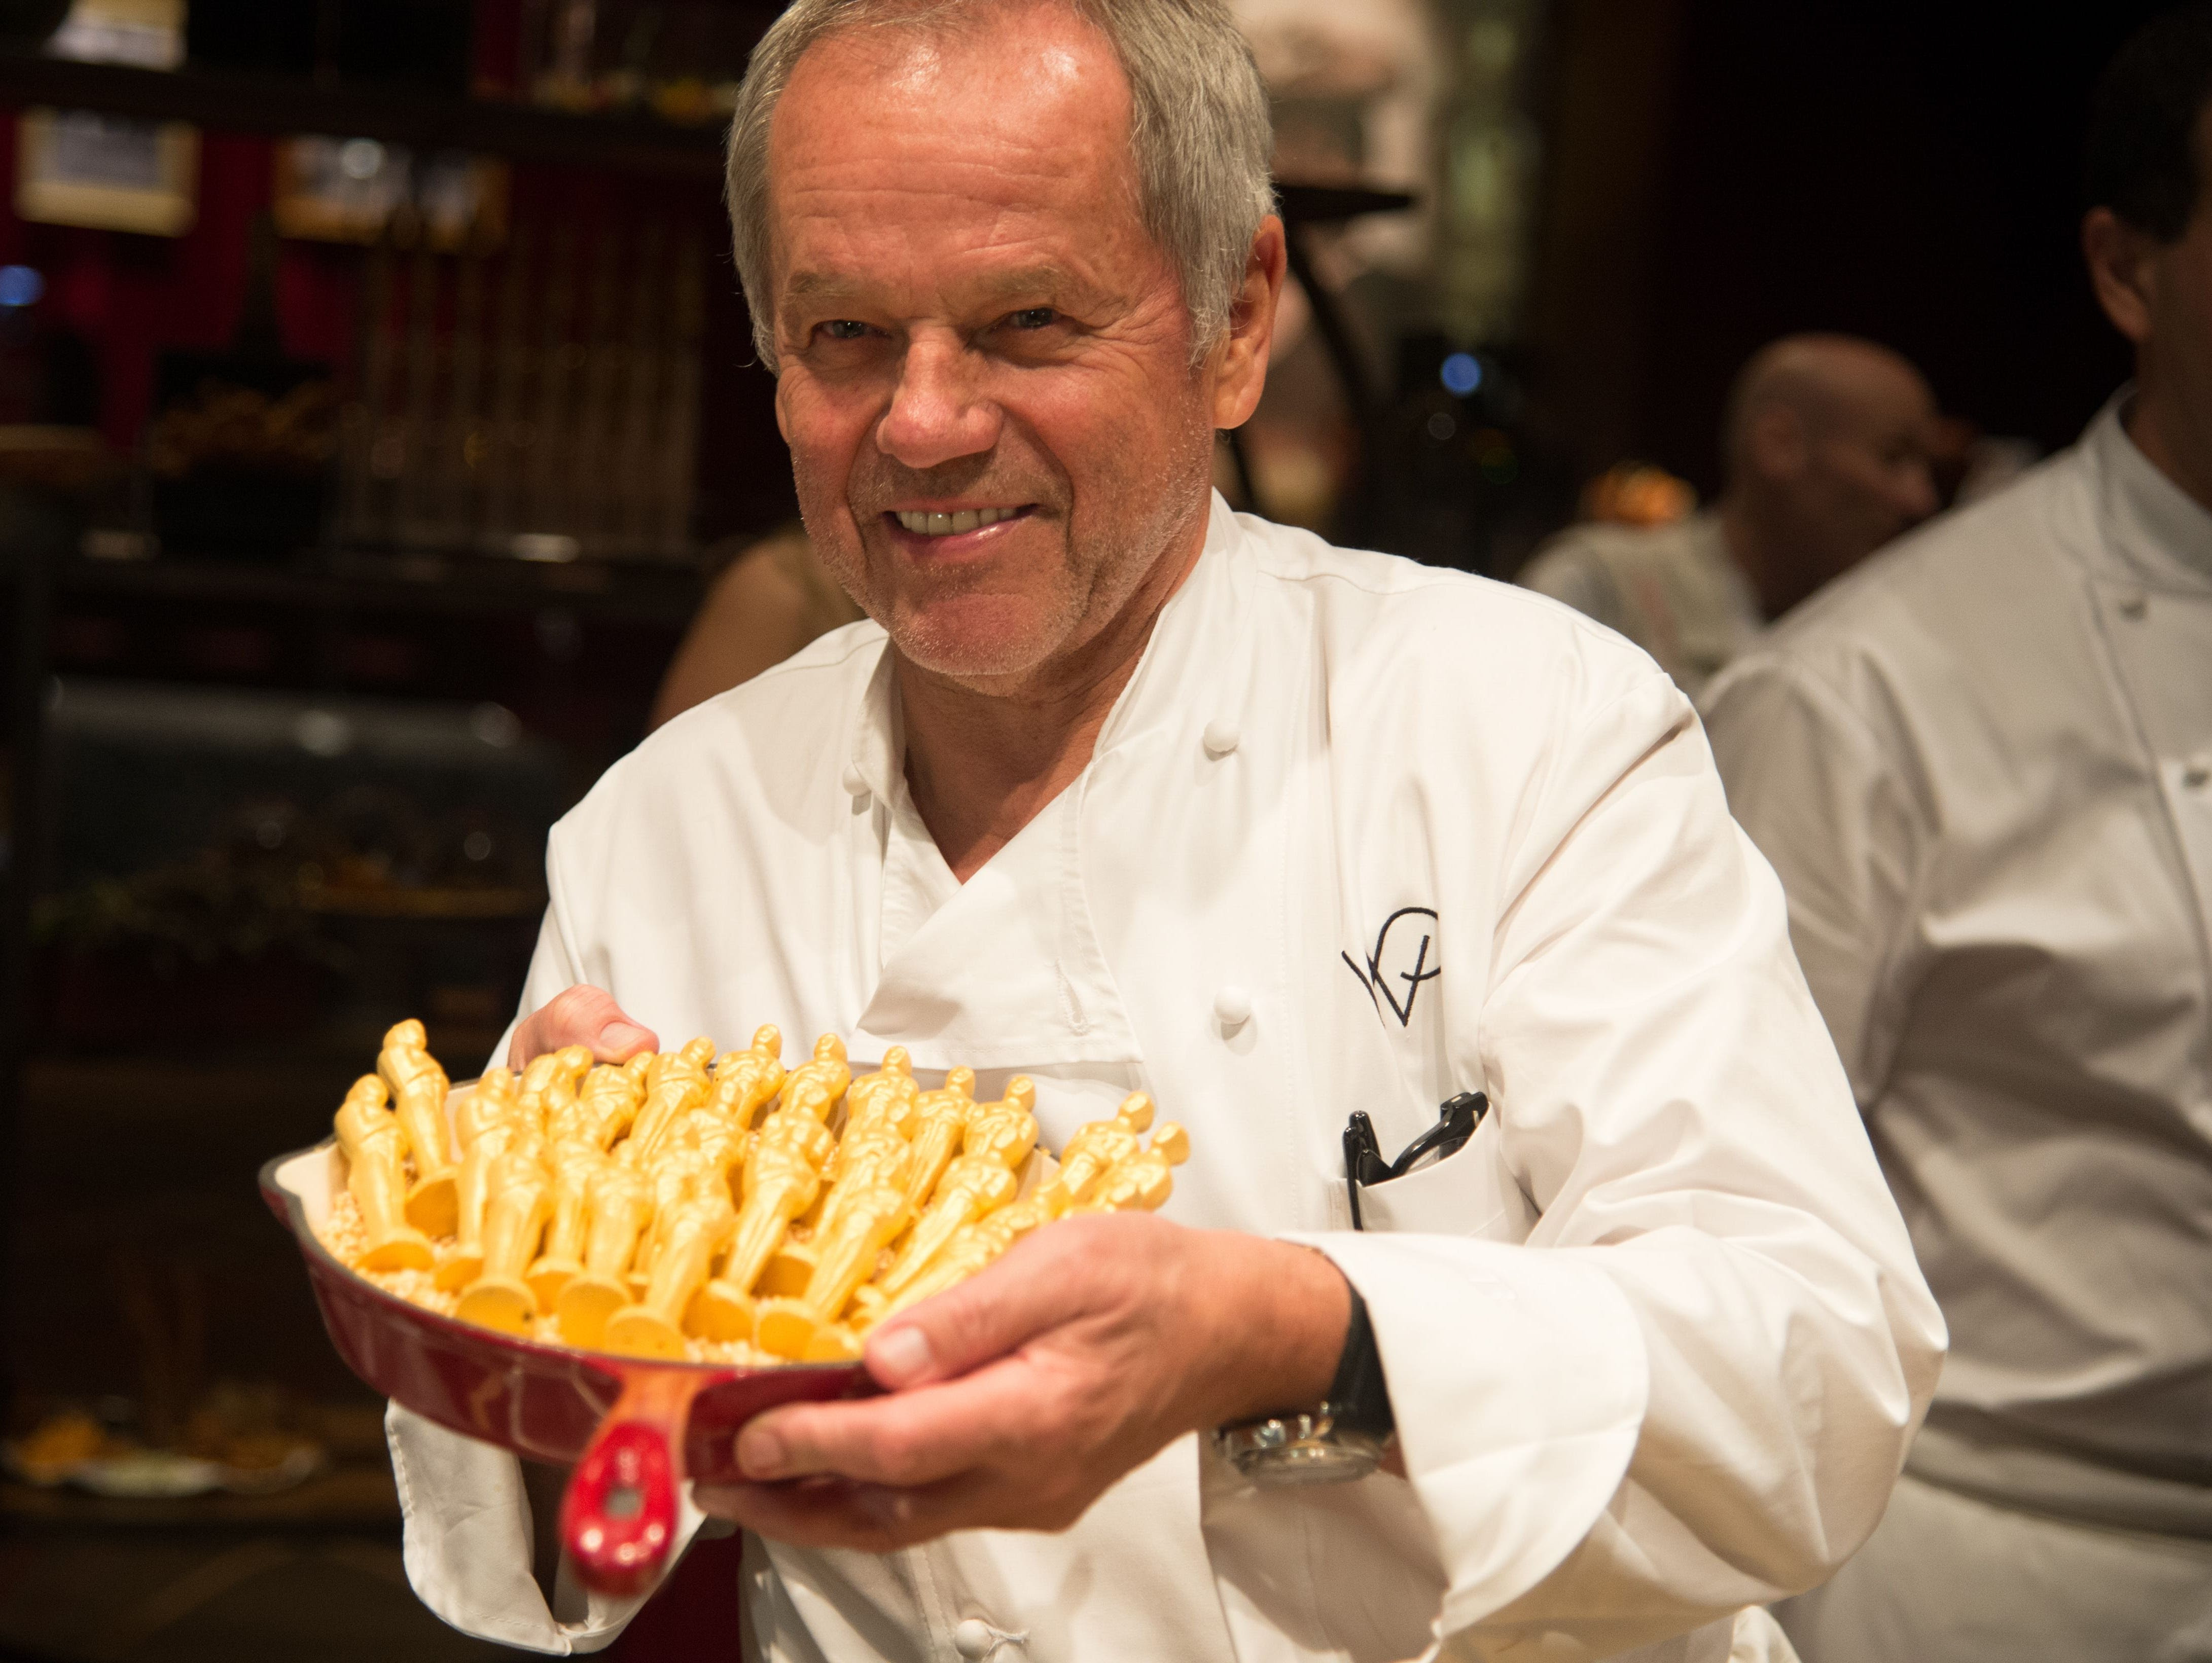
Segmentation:
{"type": "Polygon", "coordinates": [[[657,115],[568,115],[535,104],[440,97],[405,86],[323,84],[305,75],[80,64],[0,53],[0,104],[53,104],[234,133],[325,133],[418,150],[482,150],[675,179],[721,179],[721,126],[657,115]]]}

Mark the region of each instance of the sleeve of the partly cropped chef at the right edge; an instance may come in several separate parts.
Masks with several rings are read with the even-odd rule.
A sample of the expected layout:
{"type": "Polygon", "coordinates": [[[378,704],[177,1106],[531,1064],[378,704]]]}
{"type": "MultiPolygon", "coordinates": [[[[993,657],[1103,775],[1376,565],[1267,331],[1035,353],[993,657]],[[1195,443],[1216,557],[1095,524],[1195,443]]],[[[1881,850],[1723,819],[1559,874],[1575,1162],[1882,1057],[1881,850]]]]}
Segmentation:
{"type": "Polygon", "coordinates": [[[1918,977],[1911,920],[1929,809],[1916,770],[1896,736],[1772,655],[1708,690],[1705,730],[1728,807],[1781,876],[1798,964],[1871,1110],[1918,977]]]}

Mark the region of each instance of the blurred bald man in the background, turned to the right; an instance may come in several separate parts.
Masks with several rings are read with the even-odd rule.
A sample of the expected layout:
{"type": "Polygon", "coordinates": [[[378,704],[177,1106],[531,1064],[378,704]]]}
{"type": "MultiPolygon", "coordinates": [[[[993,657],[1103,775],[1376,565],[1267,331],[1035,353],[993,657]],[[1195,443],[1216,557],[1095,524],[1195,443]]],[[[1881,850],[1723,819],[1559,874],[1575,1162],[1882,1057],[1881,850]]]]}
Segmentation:
{"type": "Polygon", "coordinates": [[[1889,347],[1794,334],[1736,374],[1721,498],[1663,526],[1579,524],[1522,571],[1697,697],[1770,619],[1936,511],[1936,396],[1889,347]]]}

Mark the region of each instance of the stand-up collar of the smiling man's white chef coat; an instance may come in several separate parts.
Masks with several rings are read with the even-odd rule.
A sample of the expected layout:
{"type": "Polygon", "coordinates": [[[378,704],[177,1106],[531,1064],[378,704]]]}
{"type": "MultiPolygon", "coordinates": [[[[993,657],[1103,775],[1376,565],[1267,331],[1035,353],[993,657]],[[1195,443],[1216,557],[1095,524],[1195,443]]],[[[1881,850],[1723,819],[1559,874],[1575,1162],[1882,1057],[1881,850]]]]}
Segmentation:
{"type": "MultiPolygon", "coordinates": [[[[1230,635],[1230,617],[1243,613],[1243,595],[1250,588],[1250,562],[1241,559],[1243,531],[1237,513],[1212,493],[1206,517],[1206,548],[1199,551],[1197,566],[1183,584],[1159,608],[1152,639],[1146,641],[1137,672],[1130,677],[1115,708],[1099,730],[1095,754],[1104,756],[1170,721],[1203,723],[1210,714],[1212,688],[1221,677],[1230,677],[1232,688],[1243,688],[1241,668],[1250,661],[1243,630],[1230,635]]],[[[1241,699],[1241,694],[1237,694],[1241,699]]],[[[898,708],[898,679],[891,661],[891,641],[885,637],[876,674],[869,677],[867,692],[852,734],[852,781],[874,794],[878,803],[898,803],[905,796],[907,734],[898,708]]]]}

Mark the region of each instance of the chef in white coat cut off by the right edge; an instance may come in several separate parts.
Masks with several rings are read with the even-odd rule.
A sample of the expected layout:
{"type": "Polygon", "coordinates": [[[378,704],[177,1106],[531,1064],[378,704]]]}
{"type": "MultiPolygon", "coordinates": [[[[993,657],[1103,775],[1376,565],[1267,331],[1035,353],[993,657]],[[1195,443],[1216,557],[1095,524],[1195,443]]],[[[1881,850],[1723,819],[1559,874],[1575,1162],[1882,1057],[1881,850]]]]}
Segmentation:
{"type": "Polygon", "coordinates": [[[2135,385],[1710,692],[1951,1360],[1812,1663],[2212,1659],[2212,7],[2097,95],[2135,385]]]}

